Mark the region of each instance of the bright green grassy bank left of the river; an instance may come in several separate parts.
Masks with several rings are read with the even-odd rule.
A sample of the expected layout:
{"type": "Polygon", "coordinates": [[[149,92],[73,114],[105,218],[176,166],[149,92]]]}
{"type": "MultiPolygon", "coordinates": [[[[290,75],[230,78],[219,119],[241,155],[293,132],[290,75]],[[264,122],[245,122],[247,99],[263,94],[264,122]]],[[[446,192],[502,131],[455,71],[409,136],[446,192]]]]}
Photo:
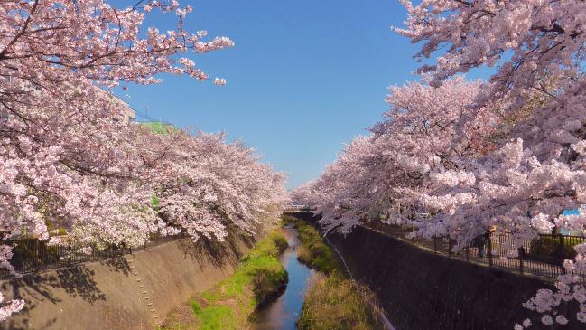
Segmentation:
{"type": "Polygon", "coordinates": [[[278,256],[287,247],[279,231],[270,233],[241,259],[229,278],[191,297],[169,313],[162,330],[238,330],[246,328],[257,306],[277,297],[288,276],[278,256]]]}

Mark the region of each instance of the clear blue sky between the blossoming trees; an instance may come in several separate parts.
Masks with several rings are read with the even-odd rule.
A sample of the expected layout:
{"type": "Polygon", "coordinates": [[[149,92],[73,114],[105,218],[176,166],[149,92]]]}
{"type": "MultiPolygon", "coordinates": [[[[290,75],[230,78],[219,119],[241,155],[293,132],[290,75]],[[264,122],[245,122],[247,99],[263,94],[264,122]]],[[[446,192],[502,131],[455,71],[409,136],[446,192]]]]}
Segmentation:
{"type": "MultiPolygon", "coordinates": [[[[289,174],[289,188],[317,177],[344,143],[381,118],[388,86],[417,79],[419,47],[390,29],[406,16],[396,0],[181,1],[187,4],[194,8],[189,30],[236,42],[190,55],[228,85],[163,76],[162,84],[130,87],[129,103],[179,127],[227,131],[289,174]]],[[[169,30],[167,16],[147,24],[169,30]]]]}

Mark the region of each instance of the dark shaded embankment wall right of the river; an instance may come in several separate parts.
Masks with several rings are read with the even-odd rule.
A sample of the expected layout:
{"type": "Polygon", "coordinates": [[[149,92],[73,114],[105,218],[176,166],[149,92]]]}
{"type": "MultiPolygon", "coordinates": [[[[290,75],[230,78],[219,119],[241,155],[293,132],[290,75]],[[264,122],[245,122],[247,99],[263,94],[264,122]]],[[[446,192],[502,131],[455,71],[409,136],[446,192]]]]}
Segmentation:
{"type": "MultiPolygon", "coordinates": [[[[358,227],[346,238],[329,235],[355,278],[377,293],[397,330],[512,329],[532,317],[521,304],[550,284],[499,269],[449,259],[376,231],[358,227]]],[[[571,306],[572,307],[572,306],[571,306]]],[[[560,329],[584,329],[572,324],[560,329]]]]}

